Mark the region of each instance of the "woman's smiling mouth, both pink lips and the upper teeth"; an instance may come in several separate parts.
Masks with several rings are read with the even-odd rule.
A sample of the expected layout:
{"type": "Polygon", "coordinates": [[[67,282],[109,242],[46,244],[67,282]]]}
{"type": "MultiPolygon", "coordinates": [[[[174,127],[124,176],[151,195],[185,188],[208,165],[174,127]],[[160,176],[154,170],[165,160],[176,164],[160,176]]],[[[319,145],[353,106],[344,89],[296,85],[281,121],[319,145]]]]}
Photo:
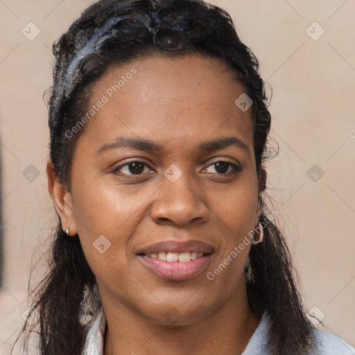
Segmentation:
{"type": "Polygon", "coordinates": [[[213,254],[214,248],[200,241],[165,241],[144,248],[137,256],[158,277],[182,281],[207,268],[213,254]]]}

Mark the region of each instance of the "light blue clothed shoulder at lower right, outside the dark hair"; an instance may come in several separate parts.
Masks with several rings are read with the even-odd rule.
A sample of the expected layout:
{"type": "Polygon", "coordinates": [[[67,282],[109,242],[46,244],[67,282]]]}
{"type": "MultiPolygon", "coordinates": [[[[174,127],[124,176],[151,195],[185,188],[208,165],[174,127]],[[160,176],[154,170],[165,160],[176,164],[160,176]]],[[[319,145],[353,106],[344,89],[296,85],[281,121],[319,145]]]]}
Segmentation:
{"type": "Polygon", "coordinates": [[[354,347],[340,336],[318,329],[313,329],[313,332],[318,345],[318,350],[314,355],[355,355],[354,347]]]}

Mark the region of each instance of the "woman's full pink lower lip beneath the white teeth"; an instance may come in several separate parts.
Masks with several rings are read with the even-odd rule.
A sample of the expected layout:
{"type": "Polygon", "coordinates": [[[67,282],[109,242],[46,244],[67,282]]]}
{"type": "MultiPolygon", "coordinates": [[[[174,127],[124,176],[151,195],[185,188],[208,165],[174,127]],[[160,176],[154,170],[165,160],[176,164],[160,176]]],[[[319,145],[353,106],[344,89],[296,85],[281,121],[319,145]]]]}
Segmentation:
{"type": "Polygon", "coordinates": [[[164,261],[140,255],[144,265],[159,277],[181,281],[195,277],[207,267],[212,254],[206,254],[191,261],[164,261]]]}

